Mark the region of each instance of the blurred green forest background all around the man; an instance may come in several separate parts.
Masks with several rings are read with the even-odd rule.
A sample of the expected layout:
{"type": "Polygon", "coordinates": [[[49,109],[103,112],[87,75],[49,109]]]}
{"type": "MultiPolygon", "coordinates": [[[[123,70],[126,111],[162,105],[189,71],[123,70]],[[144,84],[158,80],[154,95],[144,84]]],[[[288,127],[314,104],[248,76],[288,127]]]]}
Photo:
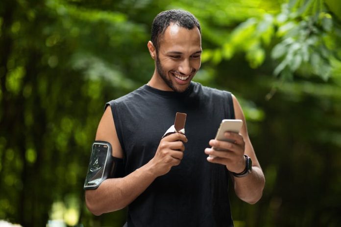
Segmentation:
{"type": "Polygon", "coordinates": [[[231,188],[235,226],[341,226],[339,0],[1,0],[0,220],[123,225],[85,207],[90,148],[105,102],[151,77],[150,26],[174,8],[202,26],[195,81],[240,100],[266,176],[257,204],[231,188]]]}

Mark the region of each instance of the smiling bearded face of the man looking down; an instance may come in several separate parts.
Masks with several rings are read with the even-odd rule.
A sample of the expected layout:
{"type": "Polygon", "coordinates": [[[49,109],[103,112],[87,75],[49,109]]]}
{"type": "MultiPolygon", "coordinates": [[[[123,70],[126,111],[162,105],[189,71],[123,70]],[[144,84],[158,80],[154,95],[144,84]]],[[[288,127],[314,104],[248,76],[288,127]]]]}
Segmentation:
{"type": "Polygon", "coordinates": [[[156,70],[165,90],[186,91],[200,68],[201,52],[201,36],[197,27],[191,30],[175,24],[167,27],[156,56],[156,70]]]}

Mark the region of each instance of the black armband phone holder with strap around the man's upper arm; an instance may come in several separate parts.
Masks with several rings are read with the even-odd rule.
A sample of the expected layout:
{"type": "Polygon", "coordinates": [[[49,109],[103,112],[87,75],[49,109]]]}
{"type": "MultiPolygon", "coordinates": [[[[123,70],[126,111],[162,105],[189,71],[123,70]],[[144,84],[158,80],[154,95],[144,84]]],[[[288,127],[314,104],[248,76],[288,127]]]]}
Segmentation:
{"type": "Polygon", "coordinates": [[[123,177],[123,159],[112,156],[111,144],[105,141],[95,141],[89,161],[84,189],[96,189],[108,178],[123,177]]]}

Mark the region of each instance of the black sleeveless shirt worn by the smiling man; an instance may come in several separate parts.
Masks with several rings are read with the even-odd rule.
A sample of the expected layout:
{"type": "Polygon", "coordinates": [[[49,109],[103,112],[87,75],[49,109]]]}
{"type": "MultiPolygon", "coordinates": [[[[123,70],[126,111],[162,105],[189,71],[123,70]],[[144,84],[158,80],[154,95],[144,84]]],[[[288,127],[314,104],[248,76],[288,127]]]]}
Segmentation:
{"type": "Polygon", "coordinates": [[[125,175],[155,155],[161,137],[186,113],[184,157],[128,206],[128,227],[231,227],[226,167],[204,153],[222,119],[233,119],[230,92],[191,82],[182,92],[147,85],[107,103],[124,152],[125,175]]]}

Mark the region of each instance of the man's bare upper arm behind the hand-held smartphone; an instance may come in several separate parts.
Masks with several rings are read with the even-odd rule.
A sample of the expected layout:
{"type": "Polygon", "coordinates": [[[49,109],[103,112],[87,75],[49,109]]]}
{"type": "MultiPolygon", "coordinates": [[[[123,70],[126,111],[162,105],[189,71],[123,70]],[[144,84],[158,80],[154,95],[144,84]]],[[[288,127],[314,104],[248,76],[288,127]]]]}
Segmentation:
{"type": "Polygon", "coordinates": [[[258,162],[257,157],[256,157],[256,154],[255,154],[255,151],[253,150],[253,147],[252,147],[252,144],[251,144],[251,140],[250,140],[250,138],[248,136],[248,133],[247,133],[246,120],[245,120],[245,117],[244,117],[244,113],[243,113],[242,107],[241,107],[241,105],[239,104],[237,98],[234,95],[232,95],[232,99],[233,99],[233,107],[234,107],[234,111],[235,111],[235,118],[236,119],[241,119],[244,122],[240,133],[244,137],[245,155],[247,155],[247,156],[249,156],[251,158],[252,165],[256,165],[256,166],[260,167],[259,162],[258,162]]]}

